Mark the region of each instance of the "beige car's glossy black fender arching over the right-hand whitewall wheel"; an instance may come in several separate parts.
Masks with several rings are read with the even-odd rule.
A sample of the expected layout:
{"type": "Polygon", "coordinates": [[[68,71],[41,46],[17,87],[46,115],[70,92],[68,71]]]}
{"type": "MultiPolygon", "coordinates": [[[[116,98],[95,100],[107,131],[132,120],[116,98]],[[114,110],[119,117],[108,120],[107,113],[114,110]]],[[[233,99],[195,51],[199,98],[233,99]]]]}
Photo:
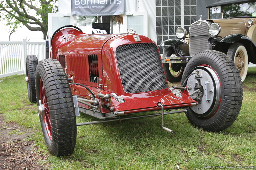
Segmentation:
{"type": "Polygon", "coordinates": [[[231,34],[227,35],[226,37],[222,38],[214,47],[214,50],[221,51],[227,54],[229,47],[233,43],[242,43],[244,44],[247,53],[249,62],[256,63],[256,55],[254,51],[256,51],[256,45],[248,36],[244,34],[231,34]]]}

